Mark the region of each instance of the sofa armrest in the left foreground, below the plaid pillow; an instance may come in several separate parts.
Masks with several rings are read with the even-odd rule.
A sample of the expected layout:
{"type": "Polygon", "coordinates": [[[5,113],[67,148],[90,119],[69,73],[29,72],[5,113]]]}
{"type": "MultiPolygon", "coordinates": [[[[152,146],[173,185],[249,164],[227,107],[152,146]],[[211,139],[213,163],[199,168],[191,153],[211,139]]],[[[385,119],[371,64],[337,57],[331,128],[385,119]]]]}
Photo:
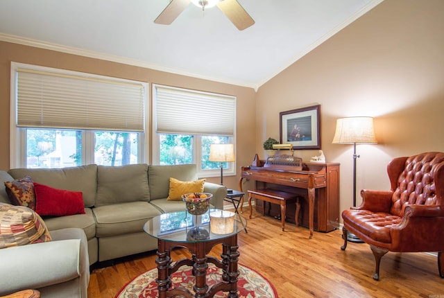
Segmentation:
{"type": "Polygon", "coordinates": [[[80,239],[0,249],[0,295],[38,289],[80,276],[80,239]]]}

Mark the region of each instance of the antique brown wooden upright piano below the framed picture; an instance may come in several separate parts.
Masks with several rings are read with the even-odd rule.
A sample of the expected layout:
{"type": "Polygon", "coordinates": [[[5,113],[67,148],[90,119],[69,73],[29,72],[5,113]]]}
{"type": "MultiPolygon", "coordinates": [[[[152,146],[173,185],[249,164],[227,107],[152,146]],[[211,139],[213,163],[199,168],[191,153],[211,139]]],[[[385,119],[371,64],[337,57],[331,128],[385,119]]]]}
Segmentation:
{"type": "MultiPolygon", "coordinates": [[[[298,221],[309,227],[309,238],[314,229],[328,232],[339,227],[339,163],[302,162],[300,157],[293,155],[268,157],[263,163],[257,161],[256,155],[253,166],[241,167],[241,191],[243,179],[255,180],[255,189],[276,189],[304,198],[300,202],[298,221]]],[[[262,204],[256,202],[255,206],[257,211],[265,213],[261,210],[262,204]]],[[[273,206],[269,208],[273,215],[273,206]]],[[[278,206],[274,208],[278,215],[278,206]]],[[[296,222],[293,210],[287,209],[289,222],[296,222]]]]}

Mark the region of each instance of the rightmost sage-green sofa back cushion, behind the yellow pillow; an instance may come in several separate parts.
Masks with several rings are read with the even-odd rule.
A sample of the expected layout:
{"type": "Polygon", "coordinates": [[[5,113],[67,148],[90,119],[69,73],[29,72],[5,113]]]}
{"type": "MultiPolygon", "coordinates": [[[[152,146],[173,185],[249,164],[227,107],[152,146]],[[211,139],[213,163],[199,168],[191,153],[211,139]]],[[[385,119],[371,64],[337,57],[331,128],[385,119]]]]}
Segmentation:
{"type": "Polygon", "coordinates": [[[150,166],[150,200],[165,199],[169,193],[169,178],[182,181],[198,179],[195,164],[178,164],[175,166],[150,166]]]}

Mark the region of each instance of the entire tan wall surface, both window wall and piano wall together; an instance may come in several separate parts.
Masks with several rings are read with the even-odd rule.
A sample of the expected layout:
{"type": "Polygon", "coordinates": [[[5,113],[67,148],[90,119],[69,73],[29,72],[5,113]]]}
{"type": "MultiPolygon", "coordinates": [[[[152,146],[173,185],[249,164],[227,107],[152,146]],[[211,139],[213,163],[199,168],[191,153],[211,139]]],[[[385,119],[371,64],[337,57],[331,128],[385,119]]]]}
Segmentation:
{"type": "MultiPolygon", "coordinates": [[[[237,168],[279,139],[279,112],[321,104],[327,161],[341,163],[341,210],[352,204],[352,146],[333,145],[336,119],[373,116],[378,145],[359,145],[357,189],[388,189],[386,164],[444,150],[444,1],[385,0],[259,88],[200,80],[0,42],[0,169],[9,168],[10,62],[39,64],[237,96],[237,168]]],[[[298,150],[304,160],[317,150],[298,150]]],[[[237,173],[239,175],[239,173],[237,173]]],[[[209,179],[219,183],[219,178],[209,179]]],[[[237,177],[225,177],[237,189],[237,177]]],[[[245,189],[253,184],[246,182],[245,189]]],[[[244,190],[245,190],[244,189],[244,190]]],[[[358,197],[358,204],[360,200],[358,197]]]]}

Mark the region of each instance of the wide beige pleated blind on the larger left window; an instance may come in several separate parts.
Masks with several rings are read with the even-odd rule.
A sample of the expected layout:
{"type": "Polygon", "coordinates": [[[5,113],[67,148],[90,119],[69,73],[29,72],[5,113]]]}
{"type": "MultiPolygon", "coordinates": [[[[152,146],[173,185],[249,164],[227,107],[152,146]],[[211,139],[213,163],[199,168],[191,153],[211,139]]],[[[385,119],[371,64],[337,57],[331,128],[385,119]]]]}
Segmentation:
{"type": "Polygon", "coordinates": [[[142,82],[17,69],[17,126],[144,131],[142,82]]]}

